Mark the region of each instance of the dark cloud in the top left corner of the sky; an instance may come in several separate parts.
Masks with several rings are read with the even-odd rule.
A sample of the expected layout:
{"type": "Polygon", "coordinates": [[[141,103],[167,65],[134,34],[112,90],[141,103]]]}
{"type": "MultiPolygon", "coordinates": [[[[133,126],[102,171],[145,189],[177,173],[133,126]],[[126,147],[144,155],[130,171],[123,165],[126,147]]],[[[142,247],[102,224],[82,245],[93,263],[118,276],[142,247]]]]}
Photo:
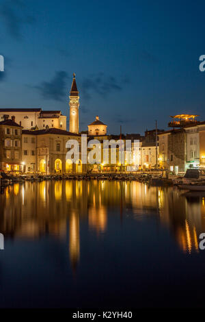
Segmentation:
{"type": "Polygon", "coordinates": [[[0,17],[10,36],[18,40],[22,38],[21,29],[23,25],[31,25],[35,21],[33,16],[27,14],[23,0],[4,1],[0,5],[0,17]]]}

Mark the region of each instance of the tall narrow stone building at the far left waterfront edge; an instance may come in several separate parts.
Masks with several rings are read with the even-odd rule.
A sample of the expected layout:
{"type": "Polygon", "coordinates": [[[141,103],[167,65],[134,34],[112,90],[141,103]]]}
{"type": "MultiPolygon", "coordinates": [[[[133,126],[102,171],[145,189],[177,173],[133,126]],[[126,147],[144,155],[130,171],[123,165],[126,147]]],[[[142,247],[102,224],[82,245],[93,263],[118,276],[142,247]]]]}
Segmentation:
{"type": "Polygon", "coordinates": [[[0,122],[0,169],[19,173],[23,171],[21,163],[22,127],[15,122],[15,116],[0,122]]]}

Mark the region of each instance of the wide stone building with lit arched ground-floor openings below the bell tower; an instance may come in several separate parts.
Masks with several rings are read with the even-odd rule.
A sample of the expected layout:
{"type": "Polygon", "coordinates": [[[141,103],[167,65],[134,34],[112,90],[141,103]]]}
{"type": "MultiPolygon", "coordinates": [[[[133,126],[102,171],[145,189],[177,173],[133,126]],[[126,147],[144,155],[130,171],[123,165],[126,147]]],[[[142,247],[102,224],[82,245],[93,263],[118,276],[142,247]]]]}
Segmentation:
{"type": "Polygon", "coordinates": [[[23,162],[25,162],[27,171],[31,169],[35,171],[36,169],[38,173],[46,175],[85,171],[85,164],[81,163],[81,157],[77,164],[72,164],[69,160],[66,161],[68,151],[66,142],[70,139],[78,140],[81,144],[80,135],[62,129],[23,130],[23,162]],[[34,145],[36,145],[36,154],[33,155],[34,145]]]}

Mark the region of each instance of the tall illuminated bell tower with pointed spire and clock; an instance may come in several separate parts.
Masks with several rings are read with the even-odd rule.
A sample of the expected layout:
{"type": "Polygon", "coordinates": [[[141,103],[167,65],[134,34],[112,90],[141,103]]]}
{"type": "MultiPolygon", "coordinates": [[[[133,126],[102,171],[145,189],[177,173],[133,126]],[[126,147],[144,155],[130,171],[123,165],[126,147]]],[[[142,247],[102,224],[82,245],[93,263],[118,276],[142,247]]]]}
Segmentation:
{"type": "Polygon", "coordinates": [[[72,133],[79,133],[79,91],[73,73],[72,86],[70,90],[70,128],[72,133]]]}

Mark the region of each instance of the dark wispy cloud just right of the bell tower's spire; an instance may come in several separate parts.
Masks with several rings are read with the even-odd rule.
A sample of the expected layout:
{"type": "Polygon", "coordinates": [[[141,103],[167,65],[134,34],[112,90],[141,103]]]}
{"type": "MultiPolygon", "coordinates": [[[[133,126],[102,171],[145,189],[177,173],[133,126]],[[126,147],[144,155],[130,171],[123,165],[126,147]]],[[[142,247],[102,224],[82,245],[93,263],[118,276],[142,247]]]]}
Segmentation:
{"type": "Polygon", "coordinates": [[[106,97],[111,92],[122,90],[122,81],[118,82],[113,76],[106,76],[104,73],[90,75],[81,82],[83,97],[90,99],[91,92],[96,92],[102,97],[106,97]]]}

